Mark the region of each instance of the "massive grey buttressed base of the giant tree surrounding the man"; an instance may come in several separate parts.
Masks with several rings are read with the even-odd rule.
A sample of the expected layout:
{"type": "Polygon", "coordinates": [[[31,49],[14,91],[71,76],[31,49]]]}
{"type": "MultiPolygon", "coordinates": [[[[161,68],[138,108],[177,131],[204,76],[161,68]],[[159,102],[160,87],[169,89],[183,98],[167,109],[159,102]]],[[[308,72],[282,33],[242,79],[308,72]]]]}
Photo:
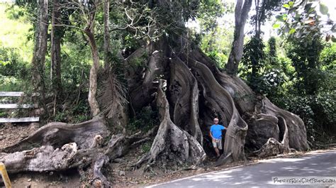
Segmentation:
{"type": "MultiPolygon", "coordinates": [[[[164,41],[161,43],[166,43],[164,41]]],[[[254,94],[250,87],[238,77],[220,72],[201,50],[177,52],[174,49],[169,49],[172,50],[169,51],[162,46],[164,45],[157,43],[148,47],[148,49],[153,49],[153,52],[142,77],[134,76],[141,75],[140,72],[143,70],[140,69],[128,74],[130,103],[135,104],[133,105],[135,111],[140,111],[143,106],[151,104],[153,100],[151,96],[156,95],[156,99],[160,99],[160,91],[153,90],[156,87],[155,82],[158,78],[167,78],[167,89],[163,91],[166,92],[169,111],[166,115],[162,115],[163,112],[160,111],[161,117],[166,118],[161,119],[161,125],[150,153],[142,157],[137,165],[145,161],[152,164],[158,159],[164,161],[166,158],[164,156],[167,150],[169,151],[166,147],[171,145],[170,148],[174,148],[174,144],[181,143],[181,140],[177,138],[184,137],[179,130],[191,134],[199,144],[203,145],[203,149],[211,147],[209,150],[213,150],[208,132],[215,117],[220,118],[220,121],[228,126],[224,143],[225,155],[220,157],[218,165],[224,162],[245,160],[245,143],[251,145],[254,141],[251,133],[254,131],[259,132],[263,139],[255,140],[257,147],[253,148],[252,152],[259,150],[269,138],[275,137],[281,142],[280,138],[284,138],[284,131],[279,131],[283,127],[281,126],[283,123],[279,120],[281,118],[288,127],[289,147],[296,150],[308,148],[306,128],[301,118],[277,108],[267,98],[254,94]],[[163,54],[166,58],[162,56],[163,54]],[[194,116],[197,113],[198,116],[194,116]],[[260,121],[258,117],[263,116],[262,114],[267,118],[260,121]],[[247,126],[248,123],[251,124],[251,130],[248,128],[250,126],[247,126]],[[171,133],[171,130],[174,130],[174,133],[171,133]],[[271,130],[278,131],[271,133],[271,130]],[[246,137],[247,133],[248,137],[246,137]],[[200,139],[202,137],[203,141],[200,139]]],[[[142,52],[138,50],[128,58],[132,59],[140,54],[142,52]]],[[[158,103],[157,101],[159,109],[163,104],[166,105],[166,102],[160,100],[158,103]]],[[[191,160],[184,152],[184,148],[187,147],[186,143],[186,141],[181,143],[179,150],[170,150],[170,153],[184,153],[179,154],[179,157],[174,157],[177,161],[191,160]]],[[[194,161],[197,161],[197,158],[194,161]]]]}

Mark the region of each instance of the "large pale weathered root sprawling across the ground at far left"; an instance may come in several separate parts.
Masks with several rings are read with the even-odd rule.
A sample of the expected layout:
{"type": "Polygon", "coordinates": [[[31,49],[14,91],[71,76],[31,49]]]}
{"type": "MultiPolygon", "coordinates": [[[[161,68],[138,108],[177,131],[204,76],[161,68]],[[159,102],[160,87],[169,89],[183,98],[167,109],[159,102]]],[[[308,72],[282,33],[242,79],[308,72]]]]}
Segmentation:
{"type": "Polygon", "coordinates": [[[94,186],[110,186],[101,172],[104,165],[128,153],[152,136],[156,128],[145,134],[110,136],[106,121],[97,116],[79,124],[48,123],[18,143],[0,149],[0,162],[9,173],[65,171],[77,168],[82,178],[94,186]],[[89,167],[92,166],[92,168],[89,167]],[[87,175],[86,175],[87,174],[87,175]],[[92,180],[92,181],[91,181],[92,180]]]}

